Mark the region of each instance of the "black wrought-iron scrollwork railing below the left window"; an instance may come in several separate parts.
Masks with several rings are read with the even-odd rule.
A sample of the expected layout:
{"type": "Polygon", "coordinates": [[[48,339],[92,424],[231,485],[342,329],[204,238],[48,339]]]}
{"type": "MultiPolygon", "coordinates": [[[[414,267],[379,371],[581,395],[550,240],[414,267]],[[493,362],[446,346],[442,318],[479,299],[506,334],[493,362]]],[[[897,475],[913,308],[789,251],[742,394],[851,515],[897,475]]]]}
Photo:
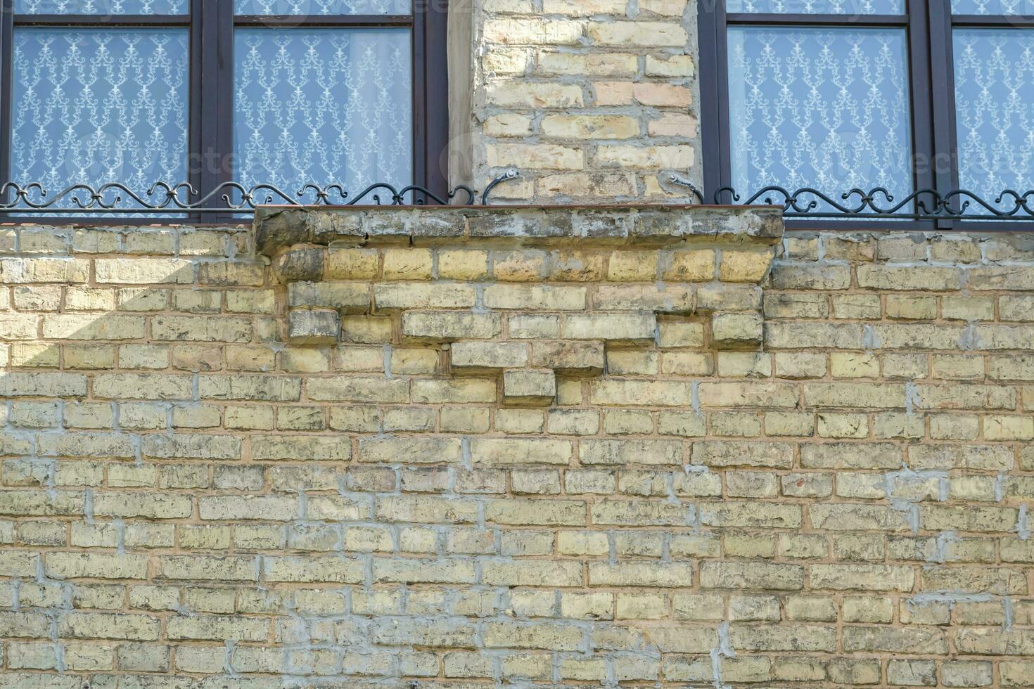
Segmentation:
{"type": "MultiPolygon", "coordinates": [[[[480,196],[489,203],[489,194],[499,184],[519,177],[509,169],[492,180],[480,196]]],[[[113,182],[92,187],[75,184],[54,195],[48,194],[39,182],[20,185],[7,182],[0,186],[0,215],[159,215],[159,214],[222,214],[247,215],[261,205],[287,206],[448,206],[458,197],[463,206],[475,206],[478,193],[465,184],[457,186],[445,197],[418,185],[401,188],[387,182],[371,184],[357,194],[351,194],[340,184],[320,186],[306,184],[294,195],[272,184],[245,187],[237,182],[223,182],[205,195],[186,182],[156,182],[141,194],[121,183],[113,182]]]]}

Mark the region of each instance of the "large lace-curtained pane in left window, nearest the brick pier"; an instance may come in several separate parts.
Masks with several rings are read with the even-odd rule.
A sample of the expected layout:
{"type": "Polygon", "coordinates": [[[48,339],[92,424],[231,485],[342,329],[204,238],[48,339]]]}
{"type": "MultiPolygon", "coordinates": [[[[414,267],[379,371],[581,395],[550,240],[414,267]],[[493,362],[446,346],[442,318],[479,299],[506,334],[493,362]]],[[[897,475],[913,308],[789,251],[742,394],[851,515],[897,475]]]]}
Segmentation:
{"type": "Polygon", "coordinates": [[[409,43],[408,29],[238,29],[239,181],[286,193],[410,183],[409,43]]]}

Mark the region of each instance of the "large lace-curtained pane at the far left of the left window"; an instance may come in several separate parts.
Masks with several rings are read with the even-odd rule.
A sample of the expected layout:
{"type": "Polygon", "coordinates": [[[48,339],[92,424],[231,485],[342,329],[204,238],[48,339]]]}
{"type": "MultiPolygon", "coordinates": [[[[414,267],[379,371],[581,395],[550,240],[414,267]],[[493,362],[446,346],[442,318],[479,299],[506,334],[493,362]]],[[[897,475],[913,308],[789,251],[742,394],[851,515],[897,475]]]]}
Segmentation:
{"type": "Polygon", "coordinates": [[[16,29],[13,180],[186,181],[188,44],[186,29],[16,29]]]}

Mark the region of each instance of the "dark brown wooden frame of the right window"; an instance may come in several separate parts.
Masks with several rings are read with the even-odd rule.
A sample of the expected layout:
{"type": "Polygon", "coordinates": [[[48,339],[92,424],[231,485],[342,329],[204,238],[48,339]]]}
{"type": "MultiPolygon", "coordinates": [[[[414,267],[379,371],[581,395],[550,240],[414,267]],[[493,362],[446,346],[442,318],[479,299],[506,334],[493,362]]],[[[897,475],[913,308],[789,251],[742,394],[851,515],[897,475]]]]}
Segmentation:
{"type": "MultiPolygon", "coordinates": [[[[898,27],[906,31],[911,103],[913,189],[946,193],[959,189],[955,133],[952,30],[966,27],[1034,28],[1034,17],[952,14],[950,0],[904,0],[904,14],[769,14],[726,12],[725,0],[699,3],[700,119],[703,137],[704,198],[708,201],[732,182],[729,119],[727,29],[730,26],[898,27]]],[[[753,189],[737,189],[753,193],[753,189]]],[[[829,190],[840,193],[846,190],[829,190]]],[[[731,202],[731,199],[723,198],[731,202]]],[[[994,199],[991,199],[994,200],[994,199]]],[[[850,220],[790,220],[788,225],[816,228],[822,224],[857,226],[877,222],[858,216],[850,220]]],[[[991,220],[894,220],[882,218],[889,229],[1030,229],[1027,223],[991,220]],[[1021,225],[1024,225],[1021,227],[1021,225]]]]}

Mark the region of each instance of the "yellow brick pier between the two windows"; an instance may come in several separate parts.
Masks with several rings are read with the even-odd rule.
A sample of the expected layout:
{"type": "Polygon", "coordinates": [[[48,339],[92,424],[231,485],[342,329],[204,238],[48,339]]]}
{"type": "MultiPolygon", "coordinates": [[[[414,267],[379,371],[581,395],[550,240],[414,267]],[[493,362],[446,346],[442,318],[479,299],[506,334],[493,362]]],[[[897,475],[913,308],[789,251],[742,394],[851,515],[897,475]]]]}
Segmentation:
{"type": "Polygon", "coordinates": [[[668,177],[700,182],[696,12],[686,0],[475,2],[473,134],[458,147],[475,184],[517,167],[496,197],[688,200],[668,177]]]}

